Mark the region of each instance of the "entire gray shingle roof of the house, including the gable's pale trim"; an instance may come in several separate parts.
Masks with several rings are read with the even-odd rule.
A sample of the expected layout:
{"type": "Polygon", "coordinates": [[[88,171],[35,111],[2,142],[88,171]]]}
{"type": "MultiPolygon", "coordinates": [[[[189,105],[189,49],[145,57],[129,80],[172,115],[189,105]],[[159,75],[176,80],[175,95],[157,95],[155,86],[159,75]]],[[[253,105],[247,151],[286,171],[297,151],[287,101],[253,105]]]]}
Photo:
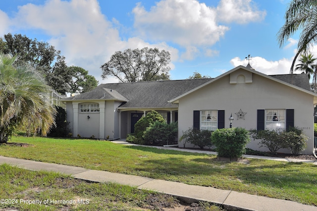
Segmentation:
{"type": "Polygon", "coordinates": [[[63,101],[117,100],[123,102],[119,106],[121,109],[174,108],[177,107],[177,105],[173,103],[177,103],[179,98],[201,87],[204,87],[205,85],[210,84],[240,68],[261,75],[278,83],[286,84],[292,86],[293,88],[311,93],[316,96],[317,103],[317,94],[311,91],[307,74],[267,76],[263,73],[255,71],[251,66],[238,66],[214,79],[100,84],[92,91],[69,97],[63,101]],[[292,82],[294,82],[294,85],[292,82]]]}

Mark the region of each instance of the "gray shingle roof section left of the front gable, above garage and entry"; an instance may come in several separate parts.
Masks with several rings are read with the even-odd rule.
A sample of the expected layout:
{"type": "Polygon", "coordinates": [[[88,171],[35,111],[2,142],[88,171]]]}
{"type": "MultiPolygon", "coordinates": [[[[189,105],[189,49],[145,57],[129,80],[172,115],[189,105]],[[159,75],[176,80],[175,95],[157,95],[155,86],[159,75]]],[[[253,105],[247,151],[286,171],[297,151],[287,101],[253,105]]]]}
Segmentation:
{"type": "Polygon", "coordinates": [[[100,84],[92,91],[69,97],[66,100],[122,99],[121,108],[177,107],[167,101],[177,97],[211,79],[191,79],[177,81],[132,82],[100,84]],[[112,89],[112,95],[109,90],[112,89]],[[108,90],[108,91],[106,91],[108,90]],[[115,93],[115,95],[114,95],[115,93]],[[119,96],[121,98],[119,98],[119,96]]]}

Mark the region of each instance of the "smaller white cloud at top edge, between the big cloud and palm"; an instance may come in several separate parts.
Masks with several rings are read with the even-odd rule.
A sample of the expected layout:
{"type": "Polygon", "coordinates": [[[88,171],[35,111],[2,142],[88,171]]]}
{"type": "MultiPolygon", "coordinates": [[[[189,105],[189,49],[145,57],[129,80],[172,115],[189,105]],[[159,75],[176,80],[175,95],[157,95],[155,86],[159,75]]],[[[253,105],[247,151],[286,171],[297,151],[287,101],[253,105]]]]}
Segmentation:
{"type": "Polygon", "coordinates": [[[217,19],[225,23],[262,21],[266,15],[266,11],[258,10],[252,0],[221,0],[216,11],[217,19]]]}

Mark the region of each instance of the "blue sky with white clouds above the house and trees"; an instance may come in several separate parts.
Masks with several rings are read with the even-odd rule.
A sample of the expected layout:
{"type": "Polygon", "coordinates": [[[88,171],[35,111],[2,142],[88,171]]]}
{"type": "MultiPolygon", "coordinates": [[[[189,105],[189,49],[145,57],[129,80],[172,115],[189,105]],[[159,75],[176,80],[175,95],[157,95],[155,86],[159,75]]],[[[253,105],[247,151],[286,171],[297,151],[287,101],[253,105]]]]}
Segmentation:
{"type": "MultiPolygon", "coordinates": [[[[276,34],[290,0],[10,0],[0,1],[0,36],[48,42],[99,83],[115,51],[157,47],[171,54],[171,79],[217,77],[250,64],[287,74],[298,34],[280,48],[276,34]]],[[[317,55],[316,47],[313,53],[317,55]],[[316,53],[315,53],[316,52],[316,53]]]]}

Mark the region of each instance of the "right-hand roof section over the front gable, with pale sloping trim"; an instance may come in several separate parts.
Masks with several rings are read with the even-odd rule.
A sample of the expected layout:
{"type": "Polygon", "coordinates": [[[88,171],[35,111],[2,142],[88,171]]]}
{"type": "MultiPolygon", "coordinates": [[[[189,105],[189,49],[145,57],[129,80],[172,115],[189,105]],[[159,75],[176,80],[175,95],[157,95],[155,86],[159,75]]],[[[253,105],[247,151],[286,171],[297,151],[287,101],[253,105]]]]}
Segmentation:
{"type": "Polygon", "coordinates": [[[288,85],[288,86],[291,86],[295,89],[298,89],[298,90],[301,90],[303,92],[306,92],[306,93],[309,93],[311,95],[314,96],[314,104],[317,104],[317,93],[314,93],[311,91],[311,88],[310,88],[310,84],[309,84],[309,80],[308,80],[308,76],[307,74],[288,74],[288,75],[272,75],[272,76],[268,76],[268,75],[265,75],[263,73],[260,73],[258,71],[256,71],[255,69],[253,69],[250,65],[248,65],[247,67],[244,67],[242,65],[238,66],[238,67],[235,67],[233,68],[232,70],[210,80],[209,82],[205,83],[205,84],[202,84],[182,95],[179,95],[171,100],[169,100],[168,102],[171,102],[171,103],[177,103],[178,100],[184,96],[186,96],[187,94],[189,93],[192,93],[208,84],[211,84],[227,75],[229,75],[230,73],[238,70],[238,69],[244,69],[244,70],[247,70],[247,71],[250,71],[254,74],[257,74],[257,75],[260,75],[260,76],[263,76],[264,78],[267,78],[267,79],[270,79],[270,80],[273,80],[275,82],[278,82],[278,83],[281,83],[281,84],[285,84],[285,85],[288,85]],[[306,76],[305,76],[306,75],[306,76]],[[293,83],[293,84],[292,84],[293,83]]]}

